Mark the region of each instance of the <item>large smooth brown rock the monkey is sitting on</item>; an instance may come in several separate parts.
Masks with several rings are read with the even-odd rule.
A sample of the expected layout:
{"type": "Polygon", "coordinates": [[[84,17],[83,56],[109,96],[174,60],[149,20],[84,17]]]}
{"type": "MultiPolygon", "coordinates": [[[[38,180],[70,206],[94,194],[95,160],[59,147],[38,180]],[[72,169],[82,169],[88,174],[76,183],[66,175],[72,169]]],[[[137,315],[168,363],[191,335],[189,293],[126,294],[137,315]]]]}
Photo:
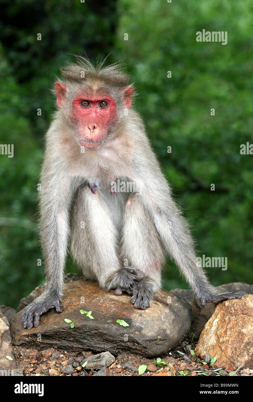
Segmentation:
{"type": "Polygon", "coordinates": [[[18,312],[10,320],[13,344],[112,354],[128,351],[153,357],[181,342],[191,325],[189,303],[165,290],[154,295],[150,308],[137,310],[129,295],[116,296],[94,281],[78,280],[65,285],[63,305],[61,314],[47,312],[41,316],[40,325],[31,330],[23,328],[23,311],[18,312]],[[80,310],[92,311],[94,319],[80,314],[80,310]],[[64,318],[72,320],[74,328],[64,318]],[[116,320],[124,320],[129,326],[121,326],[116,320]]]}

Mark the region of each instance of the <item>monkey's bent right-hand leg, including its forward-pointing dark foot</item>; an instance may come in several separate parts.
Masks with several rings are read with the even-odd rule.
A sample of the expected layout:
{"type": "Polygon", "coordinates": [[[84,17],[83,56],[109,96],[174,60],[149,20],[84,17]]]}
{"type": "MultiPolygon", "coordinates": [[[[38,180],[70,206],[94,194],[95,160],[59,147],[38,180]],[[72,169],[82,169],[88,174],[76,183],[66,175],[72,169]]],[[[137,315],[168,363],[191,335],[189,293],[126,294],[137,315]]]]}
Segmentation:
{"type": "Polygon", "coordinates": [[[147,308],[153,293],[160,288],[164,256],[154,222],[134,194],[125,206],[121,244],[121,258],[139,273],[132,287],[132,303],[136,308],[147,308]]]}

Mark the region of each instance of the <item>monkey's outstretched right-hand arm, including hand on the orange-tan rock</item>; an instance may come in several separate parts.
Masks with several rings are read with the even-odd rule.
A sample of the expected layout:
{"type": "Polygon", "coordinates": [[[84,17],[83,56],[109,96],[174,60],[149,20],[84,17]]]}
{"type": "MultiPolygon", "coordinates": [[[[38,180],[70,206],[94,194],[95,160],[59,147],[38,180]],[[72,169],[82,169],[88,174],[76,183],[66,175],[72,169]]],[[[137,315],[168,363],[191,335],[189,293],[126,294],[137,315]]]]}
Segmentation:
{"type": "Polygon", "coordinates": [[[238,294],[218,293],[208,282],[203,269],[197,265],[187,223],[171,197],[167,180],[149,144],[146,144],[145,148],[144,152],[140,149],[140,153],[133,159],[138,197],[152,216],[165,250],[194,290],[202,307],[205,307],[207,302],[218,303],[225,299],[241,298],[242,295],[238,294]]]}

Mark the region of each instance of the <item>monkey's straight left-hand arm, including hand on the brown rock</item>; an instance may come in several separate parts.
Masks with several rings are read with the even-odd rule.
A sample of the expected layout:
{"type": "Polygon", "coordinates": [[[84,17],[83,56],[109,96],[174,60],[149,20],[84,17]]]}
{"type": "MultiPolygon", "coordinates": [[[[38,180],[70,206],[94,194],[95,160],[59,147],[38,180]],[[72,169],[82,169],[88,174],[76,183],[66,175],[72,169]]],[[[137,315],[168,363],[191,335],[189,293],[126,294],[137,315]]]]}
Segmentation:
{"type": "Polygon", "coordinates": [[[41,173],[41,242],[46,283],[42,295],[27,306],[22,317],[24,328],[39,325],[41,314],[50,308],[62,312],[62,286],[69,232],[68,209],[74,186],[60,162],[45,158],[41,173]],[[34,322],[33,322],[34,321],[34,322]]]}

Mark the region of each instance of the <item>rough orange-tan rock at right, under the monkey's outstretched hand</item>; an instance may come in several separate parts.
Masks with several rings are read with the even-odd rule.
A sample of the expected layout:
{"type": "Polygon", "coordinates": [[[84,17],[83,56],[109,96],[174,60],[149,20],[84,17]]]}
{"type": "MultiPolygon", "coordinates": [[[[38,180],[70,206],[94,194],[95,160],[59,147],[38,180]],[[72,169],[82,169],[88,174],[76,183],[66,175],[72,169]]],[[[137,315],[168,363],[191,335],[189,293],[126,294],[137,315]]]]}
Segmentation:
{"type": "Polygon", "coordinates": [[[253,295],[219,303],[204,326],[195,354],[217,358],[218,367],[253,367],[253,295]]]}

